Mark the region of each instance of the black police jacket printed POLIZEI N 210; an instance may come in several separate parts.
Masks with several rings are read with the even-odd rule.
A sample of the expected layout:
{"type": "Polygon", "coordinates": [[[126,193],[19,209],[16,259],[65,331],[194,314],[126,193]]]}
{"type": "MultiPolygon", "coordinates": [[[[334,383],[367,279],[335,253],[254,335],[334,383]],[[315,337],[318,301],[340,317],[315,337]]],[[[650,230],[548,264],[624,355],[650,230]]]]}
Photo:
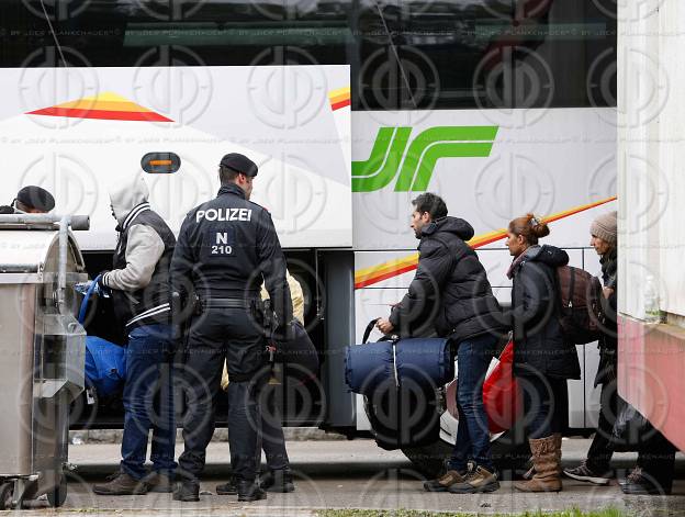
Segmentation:
{"type": "Polygon", "coordinates": [[[236,184],[191,210],[179,232],[169,271],[171,290],[200,300],[258,300],[262,281],[278,325],[292,319],[285,256],[271,215],[236,184]]]}

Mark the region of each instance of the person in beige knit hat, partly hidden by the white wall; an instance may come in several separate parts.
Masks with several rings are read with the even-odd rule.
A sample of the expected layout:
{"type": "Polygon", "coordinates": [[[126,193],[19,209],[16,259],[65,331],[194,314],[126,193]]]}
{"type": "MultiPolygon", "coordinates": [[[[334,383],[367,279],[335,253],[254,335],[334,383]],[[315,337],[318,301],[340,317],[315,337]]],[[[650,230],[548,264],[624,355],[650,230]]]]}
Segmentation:
{"type": "Polygon", "coordinates": [[[617,243],[616,212],[599,215],[589,226],[589,245],[599,255],[602,263],[602,281],[604,284],[605,302],[603,312],[604,334],[598,342],[599,368],[595,376],[595,387],[602,384],[599,398],[599,422],[597,432],[593,439],[587,458],[576,468],[565,469],[564,474],[579,481],[605,485],[611,477],[610,440],[614,422],[618,408],[616,392],[616,243],[617,243]]]}

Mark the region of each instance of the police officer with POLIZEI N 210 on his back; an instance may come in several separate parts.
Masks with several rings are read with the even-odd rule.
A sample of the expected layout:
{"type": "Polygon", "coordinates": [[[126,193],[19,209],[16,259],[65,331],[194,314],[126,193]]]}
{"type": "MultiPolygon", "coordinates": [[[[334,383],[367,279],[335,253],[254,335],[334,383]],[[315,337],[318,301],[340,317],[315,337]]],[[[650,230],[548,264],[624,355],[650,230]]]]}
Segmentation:
{"type": "Polygon", "coordinates": [[[186,373],[189,393],[183,423],[186,449],[179,458],[182,482],[177,501],[199,501],[198,476],[214,431],[214,397],[224,359],[228,385],[228,441],[238,501],[258,501],[259,391],[268,380],[266,338],[254,307],[262,281],[272,301],[277,334],[292,319],[285,257],[269,213],[249,201],[257,166],[232,153],[218,169],[218,195],[191,210],[171,261],[175,292],[199,299],[202,314],[190,325],[186,373]]]}

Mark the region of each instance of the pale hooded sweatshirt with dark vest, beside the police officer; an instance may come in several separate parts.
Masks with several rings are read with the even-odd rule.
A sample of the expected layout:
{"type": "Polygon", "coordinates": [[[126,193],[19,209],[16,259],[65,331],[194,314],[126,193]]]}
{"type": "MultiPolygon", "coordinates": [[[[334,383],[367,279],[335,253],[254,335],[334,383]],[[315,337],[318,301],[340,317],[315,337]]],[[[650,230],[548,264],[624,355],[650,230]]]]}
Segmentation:
{"type": "Polygon", "coordinates": [[[110,189],[119,223],[113,270],[102,283],[114,292],[114,311],[128,330],[169,321],[168,274],[176,239],[164,220],[150,210],[141,176],[110,189]]]}

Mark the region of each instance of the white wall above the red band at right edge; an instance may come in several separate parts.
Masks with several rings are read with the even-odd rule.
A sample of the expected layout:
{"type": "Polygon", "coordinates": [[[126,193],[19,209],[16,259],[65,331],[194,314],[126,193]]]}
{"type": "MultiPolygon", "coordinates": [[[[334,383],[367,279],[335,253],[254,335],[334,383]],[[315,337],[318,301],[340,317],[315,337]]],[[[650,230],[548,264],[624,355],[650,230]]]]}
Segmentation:
{"type": "Polygon", "coordinates": [[[685,5],[619,2],[618,15],[619,311],[643,318],[652,274],[661,308],[685,315],[685,5]]]}

